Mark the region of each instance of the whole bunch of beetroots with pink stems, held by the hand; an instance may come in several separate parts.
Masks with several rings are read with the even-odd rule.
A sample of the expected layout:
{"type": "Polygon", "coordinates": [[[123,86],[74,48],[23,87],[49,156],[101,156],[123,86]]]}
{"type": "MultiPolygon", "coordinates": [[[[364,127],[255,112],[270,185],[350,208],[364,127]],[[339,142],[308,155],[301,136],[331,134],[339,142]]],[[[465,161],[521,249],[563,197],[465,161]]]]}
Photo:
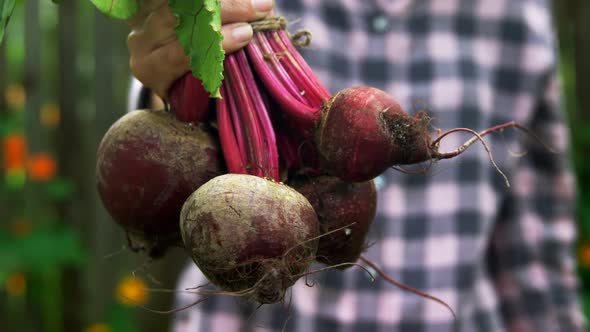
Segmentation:
{"type": "Polygon", "coordinates": [[[253,41],[226,57],[221,99],[187,74],[171,90],[170,112],[124,116],[98,151],[98,190],[131,248],[158,256],[184,246],[227,294],[275,303],[316,260],[354,265],[375,215],[374,177],[519,127],[473,132],[441,153],[452,131],[431,138],[426,116],[375,88],[332,96],[283,19],[254,25],[253,41]]]}

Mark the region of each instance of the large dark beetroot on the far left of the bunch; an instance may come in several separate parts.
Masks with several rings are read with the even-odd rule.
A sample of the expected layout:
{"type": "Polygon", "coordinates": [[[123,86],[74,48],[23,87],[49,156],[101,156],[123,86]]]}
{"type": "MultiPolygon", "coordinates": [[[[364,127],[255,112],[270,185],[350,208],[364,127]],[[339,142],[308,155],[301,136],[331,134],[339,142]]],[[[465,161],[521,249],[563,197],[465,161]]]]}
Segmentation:
{"type": "Polygon", "coordinates": [[[182,204],[222,174],[218,151],[205,127],[163,111],[131,112],[113,124],[98,149],[97,186],[133,250],[154,257],[181,243],[182,204]]]}

